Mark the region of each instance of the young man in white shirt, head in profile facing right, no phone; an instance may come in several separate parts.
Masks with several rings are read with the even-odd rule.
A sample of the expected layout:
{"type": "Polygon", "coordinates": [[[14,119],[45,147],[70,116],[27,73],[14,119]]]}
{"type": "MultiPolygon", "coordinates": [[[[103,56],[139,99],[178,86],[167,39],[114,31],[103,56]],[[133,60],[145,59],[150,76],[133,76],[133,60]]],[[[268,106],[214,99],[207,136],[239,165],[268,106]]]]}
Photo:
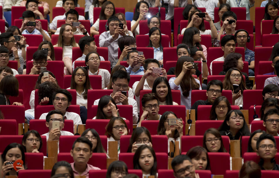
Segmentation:
{"type": "MultiPolygon", "coordinates": [[[[82,37],[79,42],[78,46],[83,52],[82,56],[76,59],[75,61],[85,61],[85,57],[90,52],[97,52],[97,46],[95,43],[95,38],[91,36],[82,37]]],[[[105,59],[100,56],[101,61],[105,61],[105,59]]],[[[75,61],[72,64],[73,71],[75,70],[75,61]]]]}

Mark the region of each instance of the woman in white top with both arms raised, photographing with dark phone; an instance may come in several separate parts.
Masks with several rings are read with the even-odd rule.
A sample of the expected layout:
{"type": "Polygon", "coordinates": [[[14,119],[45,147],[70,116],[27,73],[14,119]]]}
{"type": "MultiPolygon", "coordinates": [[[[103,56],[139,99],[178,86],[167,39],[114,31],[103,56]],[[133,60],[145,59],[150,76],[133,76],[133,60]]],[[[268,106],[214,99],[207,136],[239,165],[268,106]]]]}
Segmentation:
{"type": "MultiPolygon", "coordinates": [[[[217,38],[217,36],[218,36],[217,29],[214,26],[214,22],[212,21],[211,17],[208,15],[207,12],[205,12],[205,17],[201,18],[198,16],[199,12],[201,12],[201,11],[198,9],[193,10],[191,12],[190,18],[188,20],[188,25],[186,28],[196,27],[200,31],[200,34],[210,34],[211,39],[217,38]],[[204,20],[209,22],[210,30],[205,30],[204,20]]],[[[186,28],[183,28],[181,30],[181,34],[184,34],[184,31],[186,28]]]]}

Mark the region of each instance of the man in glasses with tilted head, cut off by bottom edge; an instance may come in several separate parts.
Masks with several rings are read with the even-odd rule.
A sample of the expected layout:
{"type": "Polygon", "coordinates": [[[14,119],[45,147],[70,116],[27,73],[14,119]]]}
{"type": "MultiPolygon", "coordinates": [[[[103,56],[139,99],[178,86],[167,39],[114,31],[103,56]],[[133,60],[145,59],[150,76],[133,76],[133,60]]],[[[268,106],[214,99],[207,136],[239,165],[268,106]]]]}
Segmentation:
{"type": "Polygon", "coordinates": [[[191,158],[187,155],[178,155],[171,161],[171,167],[174,170],[175,178],[200,178],[195,172],[195,166],[191,158]]]}

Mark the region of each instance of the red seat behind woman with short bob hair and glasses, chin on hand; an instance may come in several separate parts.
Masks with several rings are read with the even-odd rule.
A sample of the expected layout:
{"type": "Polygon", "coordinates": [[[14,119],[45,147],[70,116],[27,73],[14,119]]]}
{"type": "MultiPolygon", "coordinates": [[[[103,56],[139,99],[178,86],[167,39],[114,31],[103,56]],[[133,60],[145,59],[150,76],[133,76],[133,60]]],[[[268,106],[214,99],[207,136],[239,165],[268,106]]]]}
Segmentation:
{"type": "MultiPolygon", "coordinates": [[[[85,128],[94,128],[99,133],[99,135],[105,135],[105,128],[107,127],[109,121],[109,119],[87,119],[85,128]]],[[[125,120],[125,122],[129,130],[128,135],[132,135],[133,128],[130,125],[130,121],[125,120]]]]}

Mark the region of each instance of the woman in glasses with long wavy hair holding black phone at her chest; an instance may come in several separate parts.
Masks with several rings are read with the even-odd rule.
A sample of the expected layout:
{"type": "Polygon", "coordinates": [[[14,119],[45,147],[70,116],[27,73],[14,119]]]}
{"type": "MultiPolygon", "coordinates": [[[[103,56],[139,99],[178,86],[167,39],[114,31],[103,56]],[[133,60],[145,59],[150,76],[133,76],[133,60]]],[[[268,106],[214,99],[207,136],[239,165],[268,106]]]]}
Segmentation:
{"type": "Polygon", "coordinates": [[[230,68],[223,80],[223,90],[232,90],[232,105],[243,104],[243,90],[245,88],[245,81],[242,80],[242,73],[238,68],[230,68]],[[235,93],[233,84],[239,85],[239,92],[235,93]]]}

